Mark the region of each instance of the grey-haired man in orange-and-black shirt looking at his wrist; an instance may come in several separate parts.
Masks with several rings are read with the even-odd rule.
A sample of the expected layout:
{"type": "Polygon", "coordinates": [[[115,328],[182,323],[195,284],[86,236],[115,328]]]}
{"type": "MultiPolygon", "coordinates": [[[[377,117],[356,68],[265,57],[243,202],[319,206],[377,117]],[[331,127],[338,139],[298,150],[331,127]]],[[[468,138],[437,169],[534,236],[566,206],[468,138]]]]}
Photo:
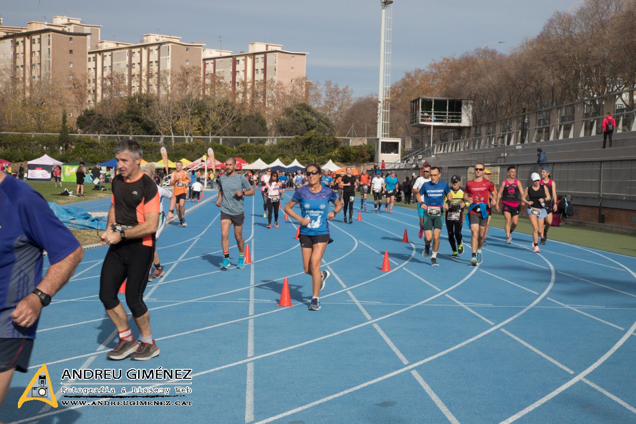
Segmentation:
{"type": "Polygon", "coordinates": [[[155,232],[159,222],[160,198],[155,181],[142,173],[141,146],[134,140],[115,148],[120,173],[113,179],[113,200],[108,211],[102,244],[110,248],[102,264],[99,300],[119,332],[119,343],[108,358],[148,360],[159,355],[150,331],[150,314],[143,295],[155,255],[155,232]],[[139,329],[140,343],[132,336],[126,311],[117,298],[126,281],[126,304],[139,329]]]}

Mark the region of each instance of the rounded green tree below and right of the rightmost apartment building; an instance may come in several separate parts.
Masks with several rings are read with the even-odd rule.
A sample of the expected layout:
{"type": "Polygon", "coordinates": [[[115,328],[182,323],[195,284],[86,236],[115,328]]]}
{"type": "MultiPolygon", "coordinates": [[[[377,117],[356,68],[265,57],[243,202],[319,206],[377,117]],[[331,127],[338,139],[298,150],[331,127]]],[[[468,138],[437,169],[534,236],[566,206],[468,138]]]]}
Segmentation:
{"type": "Polygon", "coordinates": [[[285,108],[276,120],[276,127],[281,136],[302,136],[308,131],[324,136],[334,134],[331,120],[307,103],[296,103],[285,108]]]}

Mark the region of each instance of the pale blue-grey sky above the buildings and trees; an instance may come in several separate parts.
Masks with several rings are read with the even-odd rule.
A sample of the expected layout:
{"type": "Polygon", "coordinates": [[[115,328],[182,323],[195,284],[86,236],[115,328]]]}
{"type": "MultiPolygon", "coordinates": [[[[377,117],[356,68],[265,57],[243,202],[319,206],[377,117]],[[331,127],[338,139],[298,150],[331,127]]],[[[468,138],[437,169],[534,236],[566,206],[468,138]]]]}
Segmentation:
{"type": "MultiPolygon", "coordinates": [[[[391,80],[492,41],[506,41],[491,46],[506,52],[541,31],[555,10],[567,11],[575,2],[395,0],[391,80]]],[[[268,41],[310,53],[310,80],[349,85],[355,95],[378,90],[380,0],[21,0],[6,2],[0,13],[5,25],[79,17],[103,25],[102,39],[118,41],[137,42],[144,33],[159,32],[218,48],[221,36],[223,48],[234,52],[247,50],[250,41],[268,41]]]]}

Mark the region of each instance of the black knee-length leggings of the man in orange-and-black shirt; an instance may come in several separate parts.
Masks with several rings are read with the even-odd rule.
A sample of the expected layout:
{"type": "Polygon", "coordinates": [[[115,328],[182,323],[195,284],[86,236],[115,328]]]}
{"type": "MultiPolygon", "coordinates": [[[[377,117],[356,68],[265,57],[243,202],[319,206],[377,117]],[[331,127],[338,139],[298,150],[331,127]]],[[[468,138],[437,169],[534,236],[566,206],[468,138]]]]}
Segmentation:
{"type": "Polygon", "coordinates": [[[148,311],[144,290],[154,257],[155,248],[144,246],[139,241],[120,242],[108,249],[99,279],[99,300],[107,310],[120,304],[117,292],[121,283],[127,280],[126,304],[132,316],[139,318],[148,311]]]}

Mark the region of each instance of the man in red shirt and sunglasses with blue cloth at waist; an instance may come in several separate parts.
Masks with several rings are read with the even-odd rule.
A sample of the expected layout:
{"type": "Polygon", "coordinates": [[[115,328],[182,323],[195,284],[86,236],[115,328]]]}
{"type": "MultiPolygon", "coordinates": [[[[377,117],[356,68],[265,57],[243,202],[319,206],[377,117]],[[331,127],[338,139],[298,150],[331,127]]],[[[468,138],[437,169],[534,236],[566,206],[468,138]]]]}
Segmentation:
{"type": "Polygon", "coordinates": [[[470,203],[466,219],[471,226],[471,248],[473,257],[471,265],[481,264],[481,246],[486,238],[490,205],[497,204],[497,192],[492,182],[483,178],[485,166],[475,164],[475,178],[466,183],[464,188],[464,201],[470,203]]]}

